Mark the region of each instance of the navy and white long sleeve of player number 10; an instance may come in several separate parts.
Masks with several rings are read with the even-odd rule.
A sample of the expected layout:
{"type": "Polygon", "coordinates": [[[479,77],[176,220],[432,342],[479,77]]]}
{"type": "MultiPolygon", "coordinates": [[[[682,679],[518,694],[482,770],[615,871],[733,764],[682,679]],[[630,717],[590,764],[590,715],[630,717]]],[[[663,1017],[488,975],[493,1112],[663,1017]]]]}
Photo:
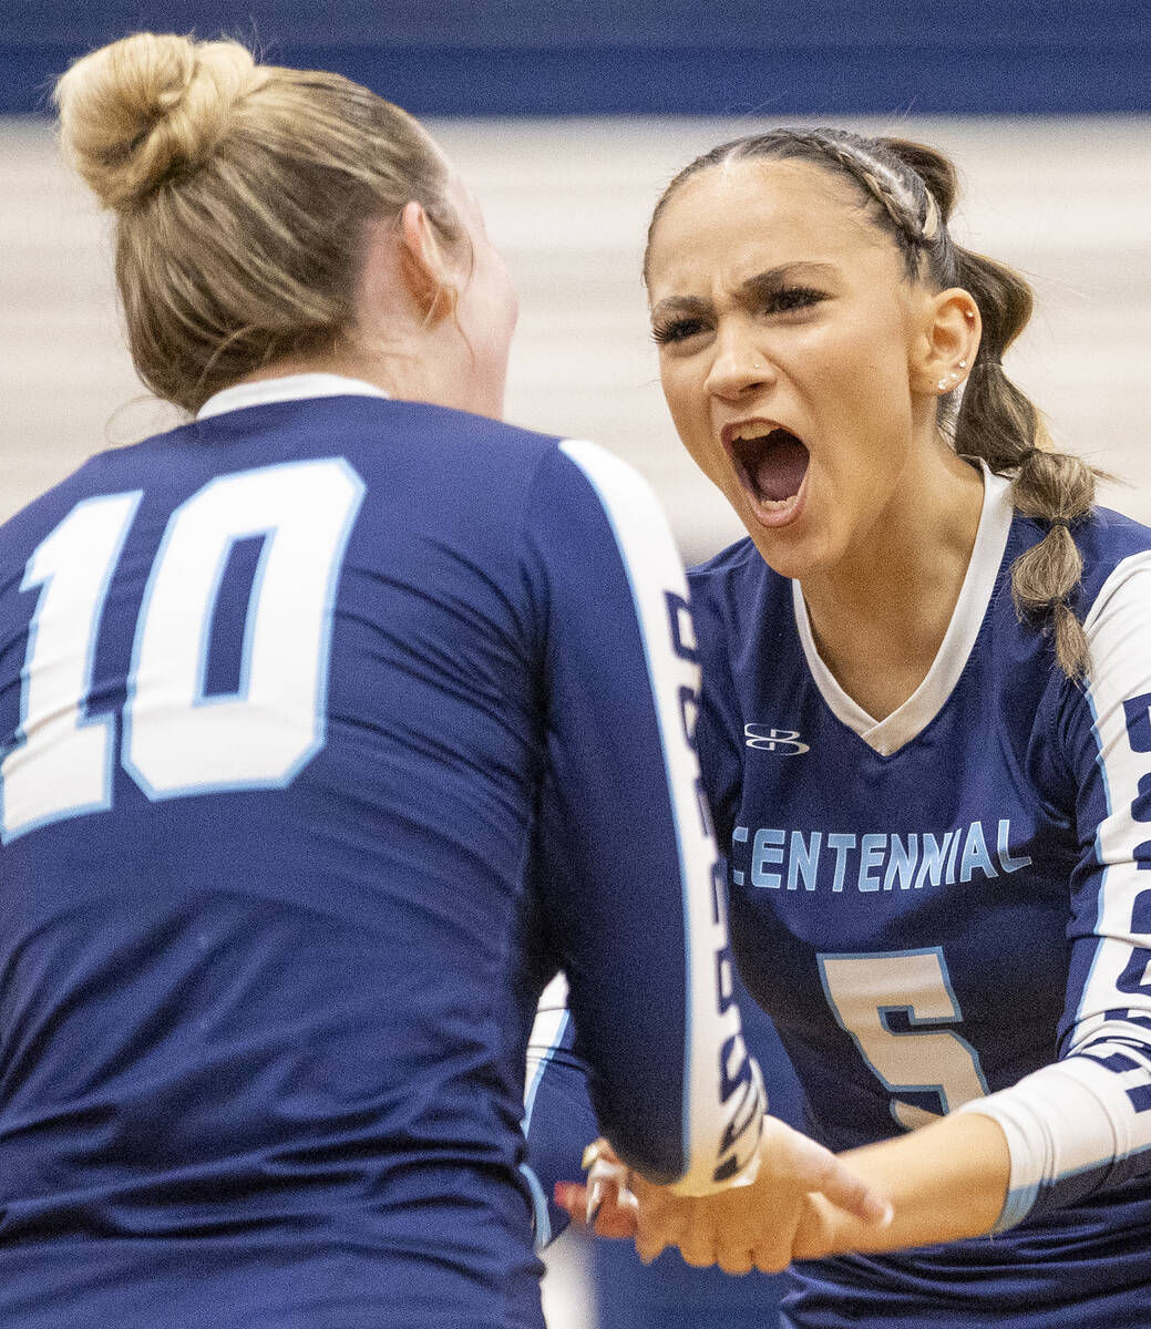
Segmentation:
{"type": "Polygon", "coordinates": [[[754,1164],[764,1095],[694,747],[686,579],[647,485],[591,444],[541,469],[528,522],[548,692],[537,869],[576,1051],[621,1156],[707,1193],[754,1164]]]}

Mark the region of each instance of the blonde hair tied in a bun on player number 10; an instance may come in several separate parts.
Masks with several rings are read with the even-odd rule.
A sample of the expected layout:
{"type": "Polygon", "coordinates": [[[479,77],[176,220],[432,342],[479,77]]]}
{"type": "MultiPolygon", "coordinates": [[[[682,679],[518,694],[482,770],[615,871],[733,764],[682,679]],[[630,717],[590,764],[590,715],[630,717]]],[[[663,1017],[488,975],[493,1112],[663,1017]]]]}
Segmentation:
{"type": "Polygon", "coordinates": [[[117,214],[137,372],[189,412],[339,344],[369,221],[415,199],[447,243],[463,234],[447,162],[407,112],[235,41],[136,33],[72,65],[56,104],[65,155],[117,214]]]}

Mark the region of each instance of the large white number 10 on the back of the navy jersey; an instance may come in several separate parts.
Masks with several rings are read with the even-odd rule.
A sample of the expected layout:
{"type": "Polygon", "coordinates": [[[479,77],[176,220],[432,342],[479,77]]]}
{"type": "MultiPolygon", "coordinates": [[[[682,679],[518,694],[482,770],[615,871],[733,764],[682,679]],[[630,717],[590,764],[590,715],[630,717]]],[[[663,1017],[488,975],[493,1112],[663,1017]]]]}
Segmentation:
{"type": "MultiPolygon", "coordinates": [[[[209,481],[169,518],[144,591],[121,762],[149,799],[282,788],[323,747],[336,579],[363,498],[342,459],[209,481]],[[262,538],[239,687],[205,694],[229,554],[262,538]]],[[[0,763],[0,837],[112,805],[116,716],[88,715],[101,614],[142,490],[77,504],[37,545],[20,728],[0,763]]]]}

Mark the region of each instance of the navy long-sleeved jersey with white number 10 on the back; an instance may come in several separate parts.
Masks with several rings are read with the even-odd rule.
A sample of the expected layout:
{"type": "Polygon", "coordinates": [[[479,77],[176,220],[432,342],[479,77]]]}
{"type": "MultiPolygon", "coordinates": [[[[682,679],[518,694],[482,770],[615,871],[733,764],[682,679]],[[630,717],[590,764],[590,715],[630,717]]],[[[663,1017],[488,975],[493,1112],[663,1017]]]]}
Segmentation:
{"type": "Polygon", "coordinates": [[[541,1324],[536,1002],[690,1192],[762,1108],[686,583],[590,444],[230,389],[0,530],[0,1322],[541,1324]]]}

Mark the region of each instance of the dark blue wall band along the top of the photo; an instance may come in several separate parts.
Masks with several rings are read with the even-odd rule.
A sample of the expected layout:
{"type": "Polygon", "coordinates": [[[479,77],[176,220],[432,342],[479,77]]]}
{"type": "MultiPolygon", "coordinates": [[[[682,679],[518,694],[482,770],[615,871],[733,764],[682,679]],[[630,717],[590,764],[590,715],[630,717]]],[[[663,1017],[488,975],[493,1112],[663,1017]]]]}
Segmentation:
{"type": "Polygon", "coordinates": [[[0,112],[137,28],[255,39],[417,114],[1151,109],[1148,0],[0,0],[0,112]]]}

